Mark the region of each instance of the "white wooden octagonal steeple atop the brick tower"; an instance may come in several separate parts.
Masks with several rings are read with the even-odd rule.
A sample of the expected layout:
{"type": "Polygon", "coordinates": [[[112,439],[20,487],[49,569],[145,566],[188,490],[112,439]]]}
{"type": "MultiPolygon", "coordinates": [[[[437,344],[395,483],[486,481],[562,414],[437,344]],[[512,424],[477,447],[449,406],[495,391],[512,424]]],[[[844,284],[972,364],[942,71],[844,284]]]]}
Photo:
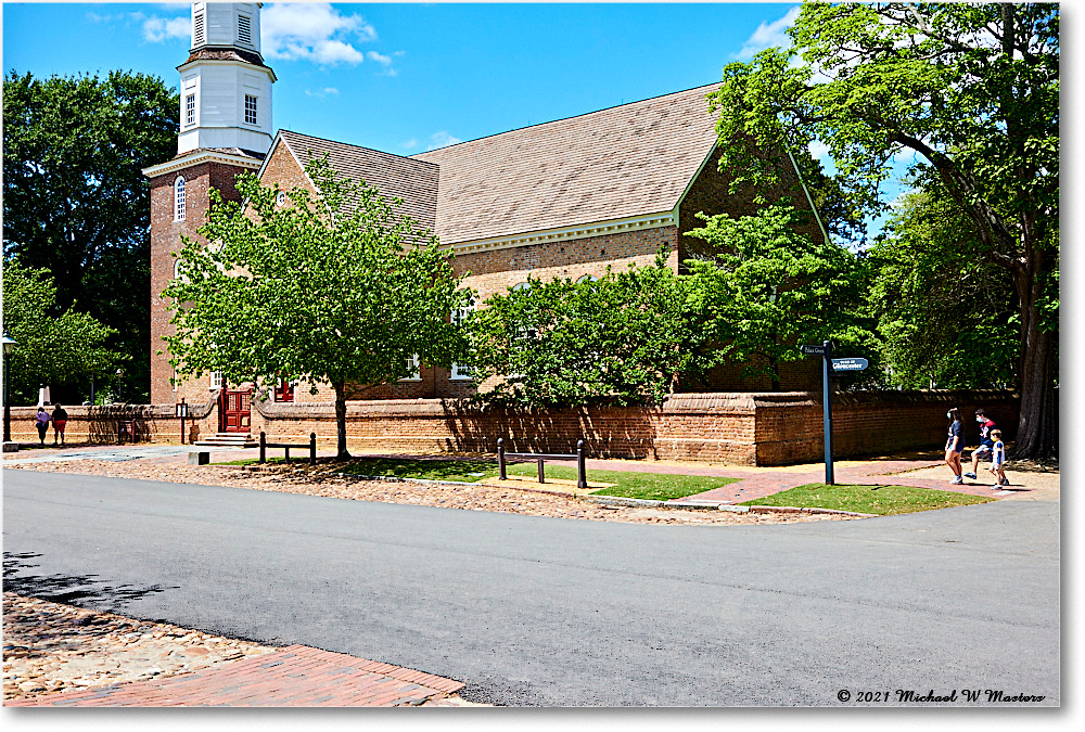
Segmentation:
{"type": "Polygon", "coordinates": [[[192,49],[181,74],[178,154],[271,147],[275,72],[260,55],[259,2],[192,3],[192,49]]]}

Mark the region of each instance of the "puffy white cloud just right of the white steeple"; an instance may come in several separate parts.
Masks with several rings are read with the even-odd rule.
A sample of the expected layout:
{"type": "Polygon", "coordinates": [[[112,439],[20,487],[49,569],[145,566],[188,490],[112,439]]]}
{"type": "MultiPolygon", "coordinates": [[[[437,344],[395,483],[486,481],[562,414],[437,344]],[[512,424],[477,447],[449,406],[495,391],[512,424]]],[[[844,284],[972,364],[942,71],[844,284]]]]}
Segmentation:
{"type": "Polygon", "coordinates": [[[260,41],[268,59],[357,65],[365,56],[355,43],[374,40],[376,29],[360,15],[343,15],[327,2],[276,3],[260,14],[260,41]]]}

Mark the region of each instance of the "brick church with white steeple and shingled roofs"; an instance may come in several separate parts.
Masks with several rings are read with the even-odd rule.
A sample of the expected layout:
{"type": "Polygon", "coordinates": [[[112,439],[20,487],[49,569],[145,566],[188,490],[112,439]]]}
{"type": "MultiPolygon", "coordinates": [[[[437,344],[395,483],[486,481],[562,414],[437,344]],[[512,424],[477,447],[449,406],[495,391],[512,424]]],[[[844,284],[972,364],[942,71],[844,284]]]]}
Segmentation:
{"type": "MultiPolygon", "coordinates": [[[[221,432],[250,431],[252,385],[222,384],[216,374],[175,382],[162,336],[169,310],[161,297],[175,275],[181,235],[195,237],[208,190],[238,198],[234,177],[252,171],[267,184],[312,189],[310,157],[328,154],[341,176],[363,180],[437,234],[456,255],[464,285],[482,303],[538,279],[596,278],[608,266],[651,264],[662,244],[674,268],[698,240],[687,237],[706,214],[751,213],[749,196],[727,193],[718,172],[715,119],[705,94],[716,85],[534,125],[404,157],[272,125],[275,72],[260,53],[260,3],[192,5],[192,47],[180,73],[177,155],[143,172],[151,184],[151,401],[214,402],[221,432]]],[[[796,190],[797,182],[792,179],[796,190]]],[[[806,389],[814,374],[786,364],[784,389],[806,389]]],[[[756,391],[767,380],[724,370],[712,389],[756,391]]],[[[354,399],[462,397],[469,376],[419,364],[413,377],[358,389],[354,399]]],[[[269,388],[271,385],[267,385],[269,388]]],[[[330,402],[291,384],[271,398],[330,402]]]]}

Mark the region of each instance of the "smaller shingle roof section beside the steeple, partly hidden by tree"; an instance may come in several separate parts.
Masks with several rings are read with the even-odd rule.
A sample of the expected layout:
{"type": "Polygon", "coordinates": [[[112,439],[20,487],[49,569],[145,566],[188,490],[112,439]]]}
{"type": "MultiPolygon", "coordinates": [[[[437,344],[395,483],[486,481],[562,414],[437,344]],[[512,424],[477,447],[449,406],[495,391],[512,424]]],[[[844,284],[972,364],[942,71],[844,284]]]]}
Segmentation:
{"type": "MultiPolygon", "coordinates": [[[[378,150],[359,147],[345,142],[322,140],[290,130],[279,134],[294,156],[305,166],[310,157],[328,153],[328,160],[340,175],[365,181],[382,197],[403,198],[399,213],[414,219],[419,227],[435,231],[437,214],[437,166],[378,150]]],[[[349,205],[347,206],[349,209],[349,205]]]]}

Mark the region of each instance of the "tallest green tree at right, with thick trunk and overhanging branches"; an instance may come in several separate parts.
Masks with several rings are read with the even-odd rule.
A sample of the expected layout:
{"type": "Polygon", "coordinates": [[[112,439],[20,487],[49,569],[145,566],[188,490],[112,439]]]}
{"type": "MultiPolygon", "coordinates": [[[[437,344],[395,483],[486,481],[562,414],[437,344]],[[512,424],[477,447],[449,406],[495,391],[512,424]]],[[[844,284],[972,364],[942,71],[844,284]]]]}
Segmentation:
{"type": "MultiPolygon", "coordinates": [[[[786,150],[825,143],[856,206],[904,153],[1013,280],[1021,418],[1016,453],[1056,451],[1059,239],[1057,4],[804,3],[790,50],[730,64],[713,94],[722,168],[773,181],[786,150]],[[781,151],[774,153],[773,151],[781,151]]],[[[800,163],[816,179],[808,155],[800,163]]]]}

